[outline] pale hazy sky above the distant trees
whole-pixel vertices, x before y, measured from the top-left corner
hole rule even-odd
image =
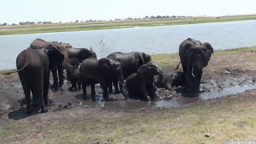
[[[256,14],[256,0],[0,0],[0,23]]]

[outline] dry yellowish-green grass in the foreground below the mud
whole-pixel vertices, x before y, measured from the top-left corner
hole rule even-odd
[[[55,119],[56,115],[52,114],[50,120],[41,120],[42,126],[34,126],[34,122],[42,119],[39,117],[30,118],[32,124],[15,121],[10,126],[0,127],[0,134],[4,135],[0,136],[0,142],[15,141],[16,137],[19,139],[18,134],[42,134],[43,138],[38,138],[35,143],[223,143],[254,140],[255,100],[254,94],[248,94],[178,109],[122,114],[118,118],[74,112],[71,115],[80,114],[80,117],[74,117],[72,122],[68,118],[71,115],[64,112],[62,118]],[[46,121],[51,122],[46,125]]]

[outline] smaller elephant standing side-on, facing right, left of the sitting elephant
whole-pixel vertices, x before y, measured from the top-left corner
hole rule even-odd
[[[95,82],[99,82],[103,90],[104,101],[109,101],[107,88],[111,78],[118,79],[120,85],[124,82],[121,64],[110,58],[101,58],[99,60],[96,58],[86,58],[78,67],[78,70],[76,70],[76,75],[81,79],[82,86],[85,89],[86,84],[93,83],[91,81],[88,82],[88,80],[94,79]],[[126,96],[122,87],[120,88],[122,94]],[[91,89],[91,97],[95,101],[95,90],[92,86]],[[84,97],[86,97],[86,94],[84,94]]]

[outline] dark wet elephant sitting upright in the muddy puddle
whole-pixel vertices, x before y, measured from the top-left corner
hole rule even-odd
[[[138,73],[126,78],[126,87],[129,98],[148,101],[155,99],[154,76],[162,74],[162,70],[154,63],[148,62],[138,69]]]

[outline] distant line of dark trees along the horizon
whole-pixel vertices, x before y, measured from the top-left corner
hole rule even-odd
[[[204,17],[206,17],[206,15],[204,16]],[[161,19],[161,18],[192,18],[192,16],[176,16],[176,15],[172,15],[172,16],[170,16],[170,15],[164,15],[164,16],[161,16],[161,15],[157,15],[157,16],[154,16],[154,15],[152,15],[152,16],[145,16],[144,18],[115,18],[114,20],[112,20],[112,19],[110,19],[109,21],[133,21],[133,20],[140,20],[140,19]],[[78,23],[79,22],[79,20],[76,20],[75,21],[76,23]],[[80,22],[83,22],[83,21],[80,21]],[[85,21],[85,22],[106,22],[105,20],[92,20],[92,19],[90,19],[90,20],[87,20],[87,21]],[[40,24],[51,24],[51,23],[54,23],[54,22],[28,22],[28,21],[26,21],[26,22],[18,22],[18,24],[16,24],[16,23],[12,23],[12,24],[9,24],[9,25],[11,25],[11,26],[15,26],[15,25],[35,25],[35,24],[38,24],[38,25],[40,25]],[[62,23],[62,22],[55,22],[55,23]],[[70,23],[72,23],[72,22],[70,22]],[[8,24],[6,23],[6,22],[4,22],[4,23],[0,23],[0,26],[7,26]]]

